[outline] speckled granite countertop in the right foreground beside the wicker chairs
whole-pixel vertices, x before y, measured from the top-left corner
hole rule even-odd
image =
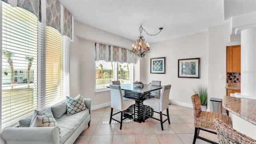
[[[223,96],[222,106],[236,116],[256,125],[256,100]]]

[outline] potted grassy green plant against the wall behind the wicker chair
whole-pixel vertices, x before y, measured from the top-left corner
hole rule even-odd
[[[207,99],[208,99],[208,93],[207,93],[207,86],[203,84],[199,84],[196,86],[196,88],[193,89],[195,94],[199,95],[200,101],[201,101],[201,107],[202,111],[207,110]]]

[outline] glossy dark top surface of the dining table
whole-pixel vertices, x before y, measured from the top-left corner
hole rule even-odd
[[[159,90],[163,88],[163,86],[158,86],[158,85],[152,85],[152,84],[143,84],[144,87],[142,86],[135,86],[134,84],[121,84],[121,89],[124,91],[131,91],[131,92],[136,92],[140,94],[144,94],[145,92],[151,92],[154,90]],[[107,86],[109,88],[109,86]]]

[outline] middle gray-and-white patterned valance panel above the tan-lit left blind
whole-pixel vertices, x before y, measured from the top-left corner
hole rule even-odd
[[[46,26],[60,32],[60,2],[58,0],[46,0]]]

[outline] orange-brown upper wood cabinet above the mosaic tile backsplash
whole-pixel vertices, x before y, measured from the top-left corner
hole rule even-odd
[[[227,72],[241,72],[241,45],[227,46]]]

